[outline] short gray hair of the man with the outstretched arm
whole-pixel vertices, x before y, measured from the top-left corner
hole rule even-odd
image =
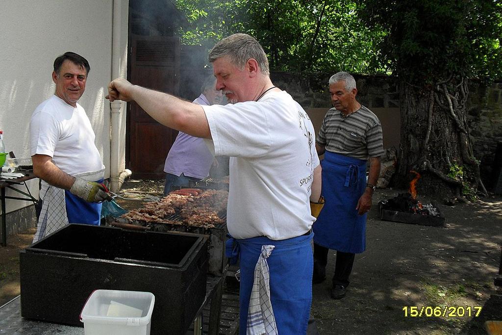
[[[270,74],[267,55],[253,36],[233,34],[222,39],[209,52],[209,62],[212,63],[226,55],[229,55],[232,63],[241,70],[250,58],[256,59],[262,73],[265,75]]]

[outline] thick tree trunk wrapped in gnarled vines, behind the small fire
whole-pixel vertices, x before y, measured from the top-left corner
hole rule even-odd
[[[465,118],[467,95],[464,78],[424,88],[400,83],[400,180],[416,170],[434,186],[427,192],[447,186],[458,197],[480,186],[485,193]]]

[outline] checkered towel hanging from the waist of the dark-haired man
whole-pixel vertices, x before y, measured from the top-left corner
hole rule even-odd
[[[48,185],[42,199],[42,210],[33,243],[68,225],[64,189]]]

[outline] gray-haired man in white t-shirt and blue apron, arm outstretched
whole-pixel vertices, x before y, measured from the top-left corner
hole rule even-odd
[[[107,97],[134,100],[161,124],[208,139],[215,155],[230,156],[227,227],[240,260],[240,333],[305,333],[315,220],[309,199],[317,202],[321,188],[314,128],[273,85],[255,38],[231,35],[209,61],[216,88],[233,104],[201,106],[120,78]]]

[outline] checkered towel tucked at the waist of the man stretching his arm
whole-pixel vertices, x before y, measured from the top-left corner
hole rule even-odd
[[[277,334],[276,319],[270,301],[270,271],[267,263],[272,245],[262,246],[262,253],[255,267],[255,281],[247,310],[247,335]]]

